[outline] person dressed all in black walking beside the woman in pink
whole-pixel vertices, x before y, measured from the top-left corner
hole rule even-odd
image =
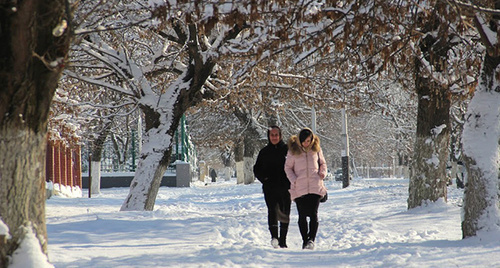
[[[253,172],[255,177],[262,182],[271,232],[271,245],[275,248],[286,248],[292,202],[288,192],[290,181],[284,170],[288,147],[283,142],[281,129],[278,126],[271,126],[268,129],[267,138],[269,143],[260,150]],[[280,222],[279,235],[278,222]]]

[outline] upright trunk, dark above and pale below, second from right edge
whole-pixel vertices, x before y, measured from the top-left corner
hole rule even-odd
[[[418,95],[417,135],[411,164],[408,208],[446,201],[446,166],[450,143],[451,94],[447,85],[433,78],[434,73],[445,73],[451,38],[447,27],[441,24],[437,3],[435,12],[424,27],[427,34],[420,41],[422,58],[415,59],[415,89]]]

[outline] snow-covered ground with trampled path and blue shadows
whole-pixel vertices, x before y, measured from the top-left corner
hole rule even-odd
[[[500,236],[461,239],[463,191],[408,211],[407,179],[327,181],[316,249],[302,250],[292,204],[287,249],[274,249],[261,184],[161,187],[149,212],[120,212],[128,188],[47,200],[55,267],[500,267]]]

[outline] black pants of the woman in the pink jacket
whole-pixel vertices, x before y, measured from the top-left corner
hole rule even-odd
[[[308,240],[314,241],[318,233],[318,207],[320,195],[307,194],[295,199],[297,211],[299,213],[299,230],[302,236],[302,241],[306,243]],[[309,217],[309,226],[307,224]]]

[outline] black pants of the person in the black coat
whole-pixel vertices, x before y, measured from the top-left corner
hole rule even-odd
[[[290,193],[288,190],[264,191],[264,199],[267,206],[267,223],[272,238],[286,238],[288,224],[290,222]],[[281,235],[278,236],[278,222],[280,222]]]

